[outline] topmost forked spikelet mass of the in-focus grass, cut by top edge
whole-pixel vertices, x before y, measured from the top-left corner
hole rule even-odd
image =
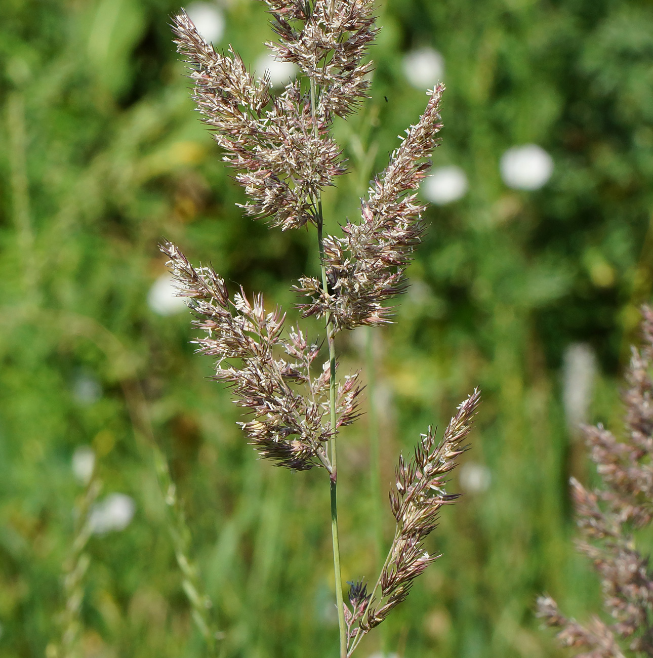
[[[375,36],[373,3],[267,4],[280,37],[270,47],[321,86],[319,102],[311,103],[300,80],[273,96],[269,79],[255,79],[231,47],[215,51],[184,11],[172,28],[190,64],[197,109],[224,160],[238,170],[236,180],[248,196],[244,208],[286,230],[315,222],[320,190],[346,171],[328,130],[334,114],[348,114],[366,95],[371,64],[361,60]]]

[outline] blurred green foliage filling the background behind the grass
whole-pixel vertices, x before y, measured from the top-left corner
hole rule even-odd
[[[182,592],[148,433],[167,456],[225,657],[336,655],[323,474],[255,459],[228,391],[193,354],[188,314],[147,293],[174,240],[228,281],[292,308],[315,270],[314,236],[243,218],[199,124],[172,47],[168,0],[1,0],[0,657],[42,656],[61,635],[61,565],[91,445],[105,493],[136,501],[122,532],[94,536],[81,655],[207,655]],[[263,6],[222,5],[247,62],[270,38]],[[614,379],[653,281],[653,9],[644,0],[390,0],[373,48],[373,97],[336,126],[352,176],[325,197],[332,230],[355,216],[371,170],[425,95],[402,57],[431,45],[448,86],[434,164],[469,193],[432,207],[398,323],[375,335],[382,483],[428,424],[475,385],[473,450],[488,490],[442,515],[443,557],[388,622],[388,650],[427,658],[556,655],[533,617],[549,590],[579,617],[597,585],[575,557],[567,477],[586,472],[561,401],[565,347],[600,357],[592,420],[615,427]],[[498,162],[535,142],[550,182],[509,190]],[[293,312],[290,312],[293,315]],[[316,328],[311,328],[312,335]],[[357,334],[342,342],[359,367]],[[95,382],[97,394],[76,394]],[[99,388],[98,388],[99,386]],[[373,577],[367,421],[344,434],[346,578]],[[457,483],[456,483],[457,484]],[[384,519],[388,540],[389,511]],[[379,650],[371,636],[361,656]],[[366,653],[367,652],[367,653]]]

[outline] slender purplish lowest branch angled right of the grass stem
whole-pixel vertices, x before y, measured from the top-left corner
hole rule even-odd
[[[437,526],[442,505],[452,503],[458,493],[448,493],[446,476],[457,466],[457,457],[467,447],[463,441],[471,430],[481,393],[475,390],[459,405],[440,443],[435,432],[427,434],[415,447],[411,461],[400,457],[396,485],[390,492],[390,508],[397,526],[394,540],[379,580],[371,594],[362,583],[352,586],[347,610],[350,620],[350,647],[353,651],[363,635],[378,626],[410,592],[413,581],[438,557],[429,555],[424,540]]]

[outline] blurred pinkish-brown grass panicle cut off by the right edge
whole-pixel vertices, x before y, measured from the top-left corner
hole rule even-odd
[[[653,573],[633,539],[653,515],[653,311],[644,307],[642,315],[644,347],[632,348],[626,372],[623,438],[601,425],[584,427],[602,486],[588,491],[571,478],[583,535],[577,547],[600,575],[604,607],[614,622],[595,616],[582,625],[564,617],[550,596],[538,599],[538,615],[560,628],[561,644],[584,649],[577,655],[588,658],[623,658],[628,651],[653,655]]]

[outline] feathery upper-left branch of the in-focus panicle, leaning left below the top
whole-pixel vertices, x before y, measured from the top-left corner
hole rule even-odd
[[[249,215],[271,217],[286,230],[315,222],[315,199],[346,169],[336,141],[321,122],[317,133],[300,82],[273,97],[267,78],[255,80],[229,47],[218,53],[184,11],[173,19],[177,50],[189,64],[193,98],[203,121],[238,170]]]

